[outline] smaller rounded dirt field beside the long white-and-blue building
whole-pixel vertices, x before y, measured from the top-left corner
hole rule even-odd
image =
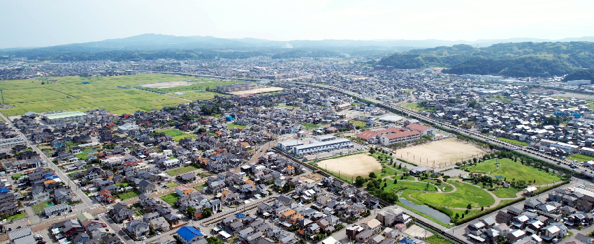
[[[367,153],[349,155],[342,158],[334,158],[329,160],[322,160],[318,162],[318,166],[328,169],[338,174],[348,174],[349,176],[365,176],[370,172],[382,171],[382,165],[377,162],[375,158]]]

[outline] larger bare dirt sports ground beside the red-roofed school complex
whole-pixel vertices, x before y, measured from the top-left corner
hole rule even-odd
[[[433,167],[433,162],[435,161],[435,167],[444,167],[460,162],[462,159],[468,160],[469,158],[476,157],[477,154],[482,155],[482,153],[484,151],[475,145],[457,142],[455,139],[444,139],[419,146],[398,149],[396,156],[428,167]]]

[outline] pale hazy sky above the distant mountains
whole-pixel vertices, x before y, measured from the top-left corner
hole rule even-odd
[[[0,48],[143,33],[269,40],[594,36],[592,0],[0,1]]]

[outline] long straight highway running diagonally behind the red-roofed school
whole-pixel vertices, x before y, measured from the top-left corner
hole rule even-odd
[[[528,149],[528,148],[525,148],[525,147],[520,146],[520,145],[511,144],[509,142],[503,142],[500,139],[498,139],[497,137],[493,137],[492,135],[484,135],[484,134],[481,134],[479,132],[475,132],[475,131],[468,130],[468,129],[465,129],[465,128],[459,128],[457,126],[450,125],[449,123],[443,123],[441,121],[437,121],[437,120],[435,120],[433,118],[430,118],[428,116],[424,116],[422,114],[417,114],[416,112],[413,112],[411,110],[405,109],[403,107],[398,107],[397,105],[391,105],[389,103],[386,103],[386,102],[383,102],[383,101],[380,101],[380,100],[375,100],[374,98],[365,98],[365,97],[361,96],[361,94],[354,93],[352,91],[347,91],[345,89],[340,89],[340,88],[335,87],[335,86],[321,86],[321,85],[318,85],[318,84],[310,84],[310,83],[303,83],[303,82],[291,82],[291,83],[303,84],[303,85],[308,85],[308,86],[318,86],[318,87],[321,87],[321,88],[330,89],[332,91],[338,91],[340,93],[344,93],[344,94],[347,94],[349,96],[354,96],[354,97],[356,97],[358,99],[361,99],[361,100],[368,100],[370,102],[375,102],[375,103],[377,103],[377,105],[379,105],[381,107],[384,107],[386,109],[391,109],[393,111],[400,112],[401,114],[403,114],[405,116],[408,116],[408,117],[411,117],[411,118],[414,118],[414,119],[418,119],[419,121],[423,121],[425,123],[430,123],[430,124],[433,124],[433,125],[439,125],[442,128],[446,128],[448,130],[457,132],[457,133],[459,133],[461,135],[466,135],[468,137],[479,139],[479,140],[484,141],[484,142],[490,142],[492,144],[498,144],[498,146],[502,146],[502,147],[506,148],[507,150],[516,151],[516,152],[521,153],[523,155],[528,155],[530,157],[537,158],[539,160],[543,160],[544,162],[549,162],[551,165],[557,165],[558,167],[564,167],[566,169],[569,169],[570,171],[573,171],[573,169],[570,167],[570,163],[567,162],[567,161],[565,161],[565,160],[561,160],[561,159],[556,158],[556,157],[553,157],[551,155],[547,155],[546,153],[541,153],[539,151]],[[585,168],[581,168],[581,169],[585,170]],[[590,178],[593,178],[593,176],[594,176],[594,174],[591,174],[591,173],[583,173],[583,174],[586,175],[586,176],[588,176],[588,177],[590,177]]]

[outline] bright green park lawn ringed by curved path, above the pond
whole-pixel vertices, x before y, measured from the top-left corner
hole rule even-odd
[[[419,195],[419,199],[451,208],[466,208],[468,204],[472,207],[495,204],[495,199],[481,188],[459,181],[448,181],[448,183],[454,185],[457,190],[451,193],[424,193]]]

